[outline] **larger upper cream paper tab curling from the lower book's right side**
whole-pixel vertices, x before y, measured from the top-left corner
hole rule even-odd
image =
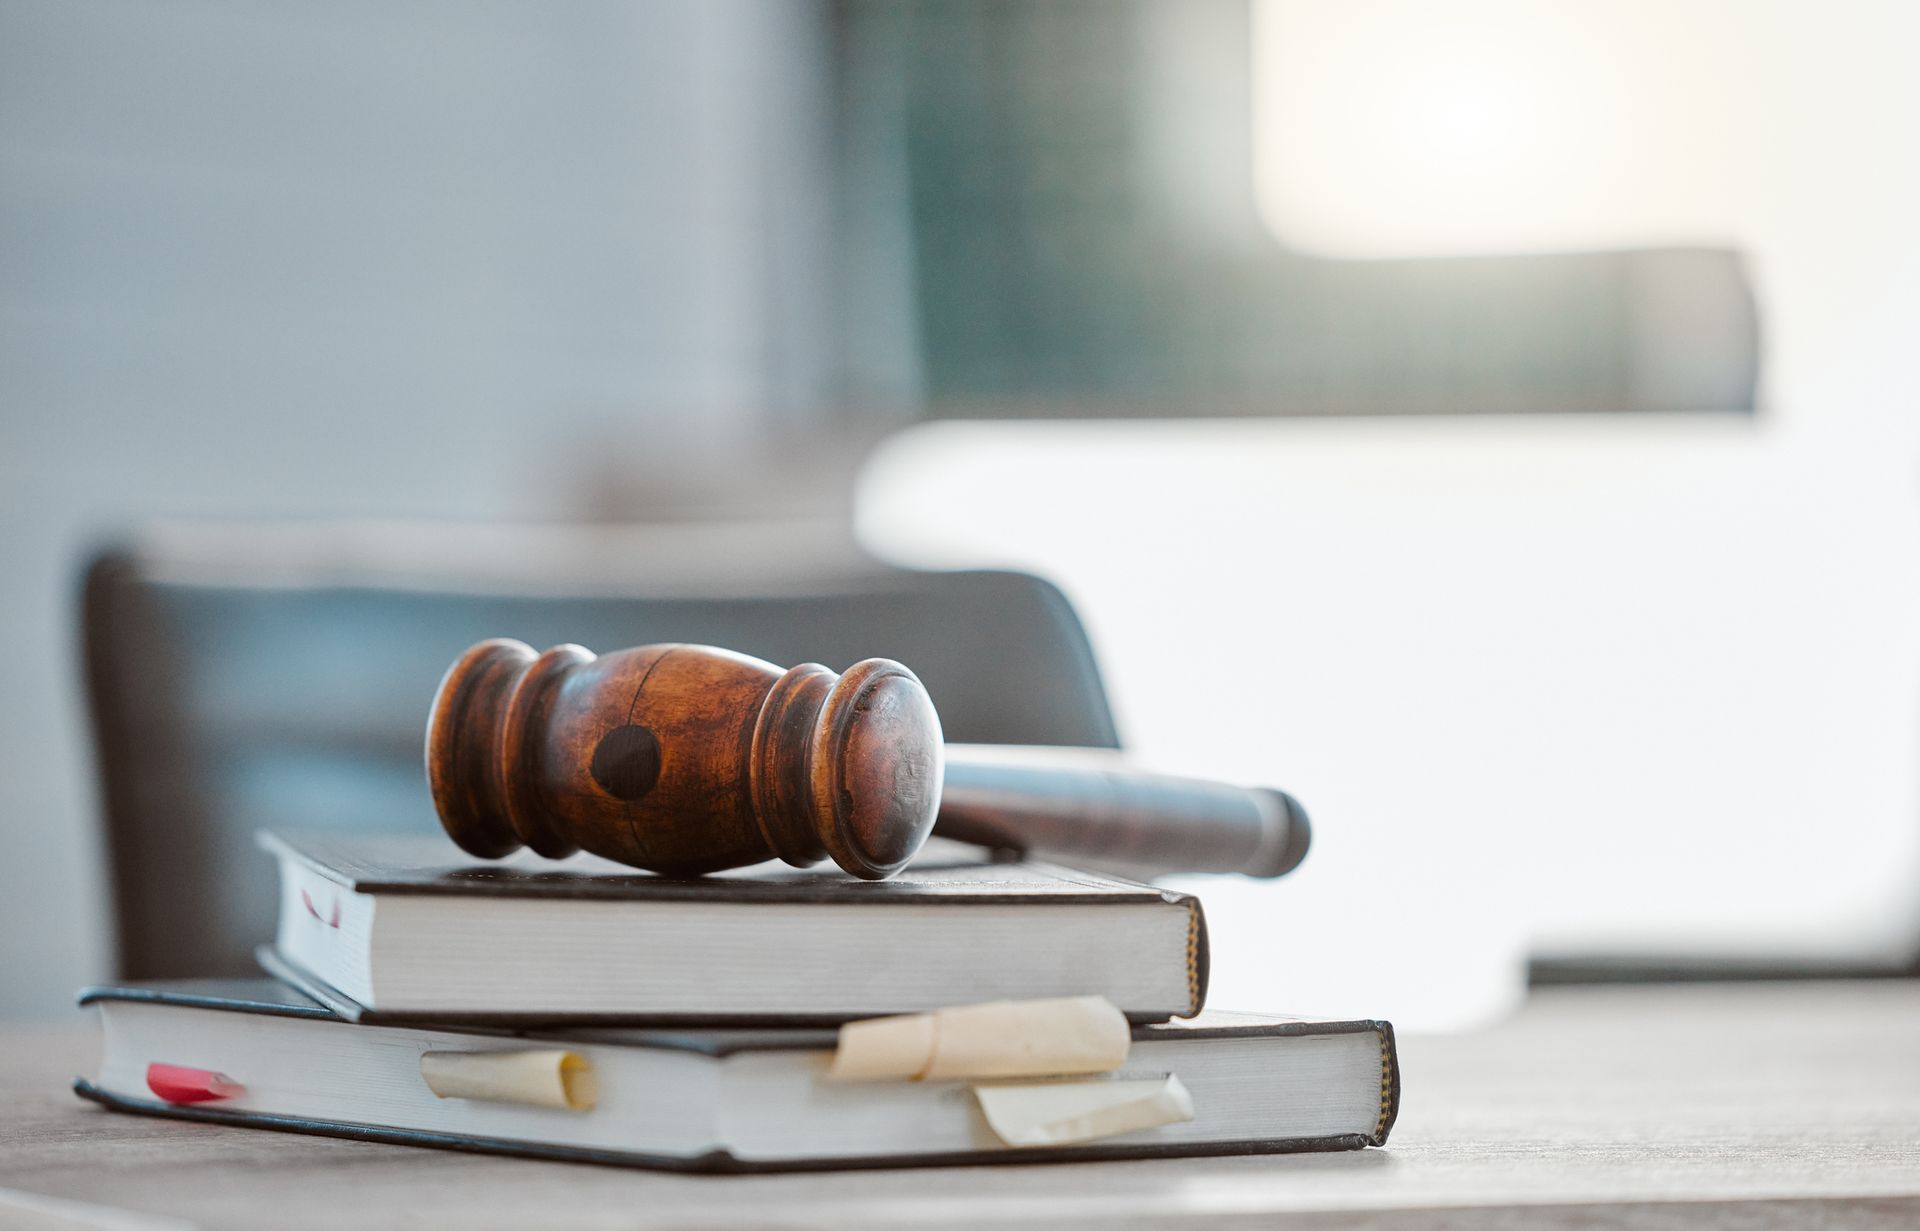
[[[960,1081],[1106,1074],[1127,1062],[1127,1018],[1104,997],[993,1001],[841,1026],[831,1081]]]

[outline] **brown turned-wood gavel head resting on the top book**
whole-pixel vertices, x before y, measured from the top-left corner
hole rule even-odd
[[[440,822],[468,855],[591,851],[668,876],[833,857],[883,880],[941,801],[941,722],[899,663],[781,670],[708,645],[595,657],[482,641],[426,726]]]

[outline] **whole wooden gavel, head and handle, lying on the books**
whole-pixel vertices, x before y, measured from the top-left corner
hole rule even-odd
[[[426,726],[434,807],[482,858],[586,849],[699,876],[831,857],[885,880],[929,832],[1142,874],[1281,876],[1306,857],[1283,791],[1079,753],[945,745],[925,688],[887,659],[781,670],[710,645],[480,641]]]

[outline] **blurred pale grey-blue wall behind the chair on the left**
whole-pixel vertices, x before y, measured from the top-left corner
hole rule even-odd
[[[0,4],[0,1004],[106,968],[98,540],[645,511],[662,455],[828,413],[824,38],[726,0]]]

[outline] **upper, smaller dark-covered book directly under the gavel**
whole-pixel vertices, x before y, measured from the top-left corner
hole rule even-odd
[[[887,881],[760,864],[668,880],[576,855],[263,833],[280,916],[263,962],[359,1022],[831,1024],[1102,995],[1200,1012],[1198,899],[929,841]]]

